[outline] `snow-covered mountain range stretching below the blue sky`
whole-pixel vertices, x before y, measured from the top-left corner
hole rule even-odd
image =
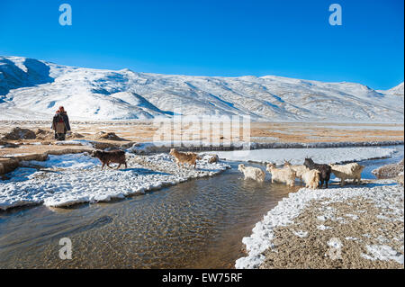
[[[402,96],[398,96],[402,95]],[[255,121],[402,122],[403,83],[375,91],[356,83],[281,76],[177,76],[59,66],[0,56],[0,120],[123,120],[250,115]]]

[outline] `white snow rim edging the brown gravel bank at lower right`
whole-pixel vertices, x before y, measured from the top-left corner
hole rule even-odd
[[[248,238],[243,238],[243,243],[247,247],[248,255],[246,257],[239,258],[236,261],[236,268],[257,268],[265,260],[263,252],[267,248],[274,247],[272,240],[274,239],[274,229],[276,227],[287,226],[293,223],[296,218],[303,211],[304,208],[310,205],[310,202],[320,201],[322,199],[328,199],[329,202],[342,202],[347,201],[350,198],[361,196],[365,200],[371,200],[375,206],[383,208],[391,208],[392,214],[402,214],[403,205],[401,209],[387,204],[388,199],[392,196],[401,196],[403,202],[403,189],[399,185],[392,185],[389,181],[380,181],[379,184],[369,184],[365,187],[356,188],[329,188],[325,190],[311,190],[302,188],[297,193],[290,193],[287,198],[279,202],[277,206],[271,211],[268,211],[264,219],[257,222],[253,233]],[[387,184],[387,185],[383,185]],[[377,250],[378,249],[378,250]],[[381,248],[370,247],[372,256],[370,258],[378,258],[380,260],[392,259],[392,252],[384,248],[384,252]],[[378,254],[378,256],[377,256]],[[403,263],[402,258],[396,258],[398,262]]]

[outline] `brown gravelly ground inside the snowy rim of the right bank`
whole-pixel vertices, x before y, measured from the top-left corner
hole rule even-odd
[[[390,195],[387,203],[403,211],[403,197]],[[333,217],[325,217],[331,211]],[[403,212],[379,208],[361,196],[311,202],[293,224],[274,230],[274,247],[266,251],[260,268],[403,269],[401,216]]]

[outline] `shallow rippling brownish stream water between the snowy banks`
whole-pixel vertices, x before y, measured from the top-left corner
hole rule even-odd
[[[396,148],[392,158],[362,162],[364,178],[398,162],[403,146]],[[244,256],[242,238],[300,186],[245,181],[238,163],[231,165],[221,175],[117,202],[0,212],[0,267],[232,268]],[[71,239],[71,260],[59,258],[60,238]]]

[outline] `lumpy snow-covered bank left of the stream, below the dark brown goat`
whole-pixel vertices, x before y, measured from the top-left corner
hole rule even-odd
[[[85,154],[49,156],[45,162],[25,162],[25,167],[9,174],[11,179],[0,181],[0,210],[40,203],[62,207],[81,202],[106,202],[191,178],[216,175],[228,168],[221,163],[199,161],[195,170],[181,169],[166,154],[130,156],[128,163],[125,169],[102,171],[98,159]]]

